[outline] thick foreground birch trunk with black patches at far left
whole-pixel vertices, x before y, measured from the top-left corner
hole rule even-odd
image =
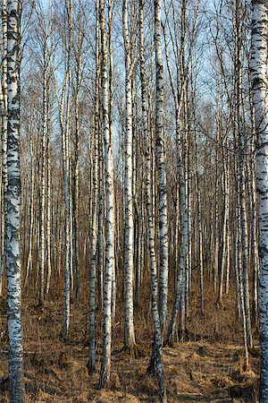
[[[25,401],[21,327],[21,167],[20,167],[20,43],[21,2],[7,5],[7,324],[11,403]]]

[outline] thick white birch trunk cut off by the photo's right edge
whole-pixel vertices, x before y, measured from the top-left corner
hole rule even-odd
[[[268,6],[266,0],[252,1],[252,54],[251,77],[255,107],[256,182],[260,223],[260,287],[259,317],[261,342],[260,402],[268,401],[268,80],[267,80],[267,29]]]

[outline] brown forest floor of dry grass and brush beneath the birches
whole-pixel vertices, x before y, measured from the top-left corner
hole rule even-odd
[[[257,401],[258,347],[250,351],[250,369],[245,371],[240,326],[231,308],[231,296],[224,307],[207,304],[200,317],[192,310],[186,341],[163,348],[167,396],[173,402]],[[152,340],[147,309],[138,310],[136,358],[122,348],[122,313],[113,324],[112,373],[109,390],[97,390],[101,345],[96,346],[97,371],[88,374],[86,335],[88,308],[71,307],[70,342],[61,340],[62,304],[47,301],[44,308],[25,299],[23,303],[24,366],[27,402],[158,402],[158,386],[147,374]],[[0,300],[0,401],[7,402],[7,340],[5,301]],[[98,336],[101,321],[98,321]],[[98,338],[100,339],[100,338]],[[119,341],[120,340],[120,341]],[[141,340],[139,342],[139,340]]]

